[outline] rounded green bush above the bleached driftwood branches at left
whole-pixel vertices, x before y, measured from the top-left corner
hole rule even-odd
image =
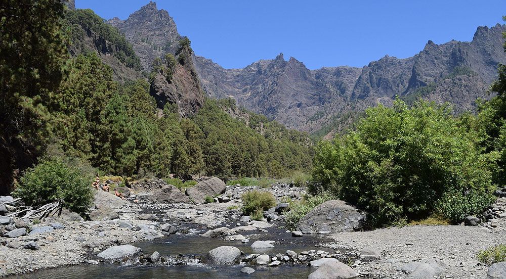
[[[27,169],[13,194],[30,206],[59,201],[79,214],[86,213],[93,200],[90,177],[59,160],[44,161]]]

